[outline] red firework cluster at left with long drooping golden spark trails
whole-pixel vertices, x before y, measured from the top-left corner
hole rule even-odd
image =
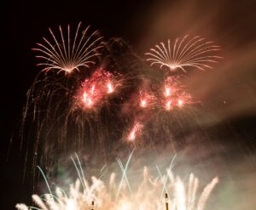
[[[117,58],[116,47],[125,46],[120,41],[109,41],[105,46],[108,48],[101,57],[108,62],[68,77],[39,71],[28,89],[20,124],[20,148],[24,150],[24,177],[32,169],[33,184],[36,165],[55,167],[60,156],[73,150],[84,150],[89,156],[101,150],[101,158],[105,158],[107,148],[123,144],[119,141],[123,133],[112,131],[125,131],[134,121],[133,115],[124,116],[121,109],[131,94],[135,77],[131,77],[129,60],[135,60],[135,56],[130,48],[121,48]],[[130,56],[129,60],[124,61],[126,56]],[[55,150],[60,151],[58,155]]]

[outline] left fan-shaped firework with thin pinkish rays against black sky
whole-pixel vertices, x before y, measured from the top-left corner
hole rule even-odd
[[[44,43],[37,43],[38,48],[33,48],[39,54],[36,56],[44,60],[38,65],[43,65],[43,71],[57,70],[71,73],[74,70],[79,71],[79,67],[89,67],[94,64],[93,59],[99,55],[99,48],[102,48],[102,37],[98,36],[98,31],[89,34],[90,26],[83,31],[80,30],[81,22],[75,35],[72,38],[70,26],[67,26],[67,36],[64,35],[61,26],[59,26],[60,37],[49,28],[52,40],[44,39]]]

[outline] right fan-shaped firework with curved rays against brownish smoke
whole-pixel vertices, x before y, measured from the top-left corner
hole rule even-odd
[[[155,45],[150,48],[148,61],[151,65],[160,65],[160,68],[166,66],[170,71],[181,69],[186,71],[185,67],[195,67],[200,70],[204,68],[212,68],[211,63],[217,63],[221,57],[215,54],[220,50],[218,45],[212,42],[205,42],[204,38],[199,36],[189,39],[189,35],[183,38],[177,38],[174,45],[170,40],[166,43]]]

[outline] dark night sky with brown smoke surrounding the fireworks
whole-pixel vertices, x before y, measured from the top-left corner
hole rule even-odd
[[[143,54],[168,37],[201,35],[223,46],[219,69],[192,72],[189,84],[205,101],[218,127],[229,125],[242,151],[231,150],[229,159],[246,159],[256,167],[256,3],[245,1],[9,1],[3,7],[3,65],[1,82],[2,142],[0,209],[15,209],[31,201],[32,185],[22,183],[19,122],[26,90],[40,69],[32,48],[48,35],[47,29],[71,24],[90,25],[104,37],[122,37]],[[149,3],[150,2],[150,3]],[[204,74],[204,75],[203,75]],[[206,78],[206,79],[204,79]],[[202,87],[198,87],[198,84]],[[214,88],[215,87],[215,88]],[[226,105],[224,105],[224,104]],[[13,144],[9,142],[14,135]],[[223,135],[229,135],[225,132]],[[226,138],[227,145],[233,142]],[[7,161],[8,160],[8,161]],[[236,164],[236,162],[233,162]],[[237,162],[237,164],[239,164]],[[252,170],[254,177],[255,170]],[[254,182],[255,184],[255,182]],[[255,186],[255,185],[254,185]],[[253,187],[253,186],[252,186]],[[255,190],[253,191],[255,192]],[[242,193],[242,192],[241,192]],[[250,200],[248,200],[250,202]],[[252,201],[255,204],[255,201]],[[252,206],[248,206],[252,207]],[[242,208],[241,208],[242,209]],[[247,208],[250,210],[253,208]]]

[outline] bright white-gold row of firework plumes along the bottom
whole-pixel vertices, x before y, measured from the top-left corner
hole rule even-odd
[[[117,158],[121,173],[111,173],[107,182],[96,177],[85,179],[80,163],[76,163],[74,159],[73,162],[79,173],[79,179],[71,184],[69,193],[57,187],[54,194],[49,188],[49,194],[32,196],[38,207],[17,204],[16,208],[19,210],[203,210],[214,186],[218,183],[218,178],[212,179],[200,195],[199,179],[193,173],[189,176],[188,184],[172,173],[173,159],[166,168],[166,174],[160,172],[157,166],[158,175],[152,176],[148,167],[144,167],[143,176],[137,177],[137,183],[133,184],[130,183],[131,178],[127,175],[131,156],[125,164]],[[47,185],[49,187],[48,183]]]

